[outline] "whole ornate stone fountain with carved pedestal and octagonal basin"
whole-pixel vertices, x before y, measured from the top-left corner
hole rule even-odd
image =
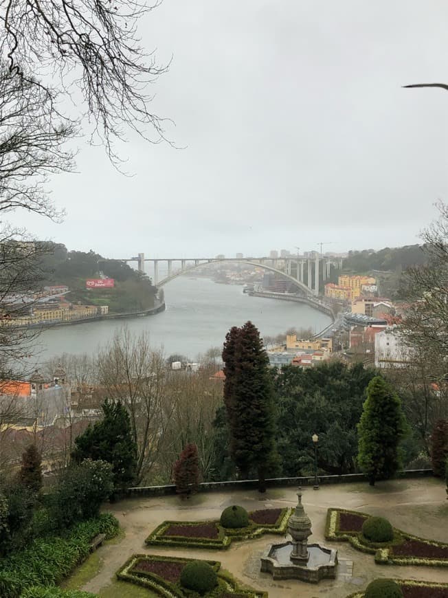
[[[336,577],[337,550],[320,544],[308,544],[311,520],[302,505],[302,489],[298,489],[298,505],[288,523],[292,540],[271,544],[261,559],[261,571],[273,579],[302,579],[317,584],[324,577]]]

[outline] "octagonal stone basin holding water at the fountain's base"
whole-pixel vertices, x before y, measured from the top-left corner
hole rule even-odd
[[[293,542],[272,544],[261,558],[261,571],[271,573],[273,579],[300,579],[317,584],[328,577],[335,579],[337,550],[327,549],[320,544],[308,544],[309,558],[303,564],[291,561]]]

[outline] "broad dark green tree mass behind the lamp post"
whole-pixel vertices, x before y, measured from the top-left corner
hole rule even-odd
[[[319,435],[318,466],[328,474],[355,471],[357,423],[375,370],[339,361],[302,369],[286,366],[274,379],[277,445],[283,476],[313,472],[313,442]]]

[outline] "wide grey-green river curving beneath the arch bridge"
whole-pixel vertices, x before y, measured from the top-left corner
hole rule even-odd
[[[231,326],[251,320],[261,335],[277,335],[291,326],[318,332],[331,319],[308,305],[249,297],[243,287],[220,285],[208,278],[179,276],[165,287],[166,311],[145,318],[109,320],[60,326],[39,336],[38,361],[62,353],[94,353],[117,329],[148,331],[155,348],[166,355],[181,353],[195,359],[212,346],[222,346]]]

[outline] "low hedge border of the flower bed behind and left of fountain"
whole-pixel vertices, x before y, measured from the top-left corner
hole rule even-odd
[[[264,533],[275,533],[283,535],[287,529],[287,524],[293,509],[287,507],[281,509],[280,515],[275,523],[271,524],[258,524],[251,522],[247,527],[239,529],[229,529],[221,526],[218,520],[207,520],[207,521],[164,521],[157,526],[148,535],[145,540],[147,546],[161,545],[161,546],[188,546],[189,548],[210,548],[217,550],[225,550],[229,548],[230,544],[234,540],[252,540],[254,538],[260,538]],[[249,513],[250,520],[250,513]],[[198,523],[214,523],[218,526],[219,537],[216,539],[212,538],[191,538],[185,535],[164,535],[164,531],[170,527],[170,525],[197,525]]]

